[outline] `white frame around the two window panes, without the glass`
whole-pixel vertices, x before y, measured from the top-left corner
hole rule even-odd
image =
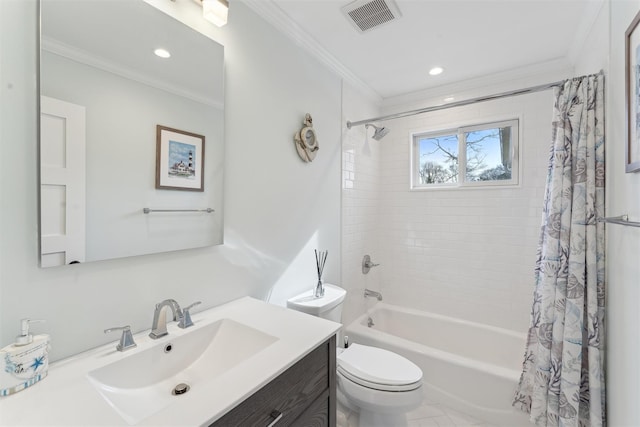
[[[452,126],[444,129],[433,131],[413,132],[410,135],[410,189],[411,190],[436,190],[436,189],[470,189],[470,188],[504,188],[517,187],[520,185],[520,140],[522,119],[520,117],[511,117],[503,120],[487,121],[469,125]],[[511,127],[511,179],[508,180],[491,180],[491,181],[467,181],[466,165],[467,165],[467,146],[465,133],[478,130],[494,129],[500,127]],[[458,182],[440,183],[440,184],[421,184],[420,183],[420,148],[418,141],[424,138],[433,138],[447,135],[458,136]],[[462,165],[462,166],[461,166]]]

